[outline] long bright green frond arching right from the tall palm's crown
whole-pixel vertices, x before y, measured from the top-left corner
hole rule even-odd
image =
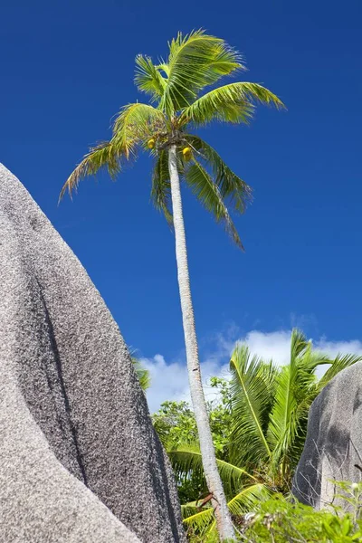
[[[257,103],[279,110],[285,107],[271,90],[258,83],[242,81],[210,90],[182,110],[179,123],[181,126],[187,122],[203,125],[211,120],[248,123]]]

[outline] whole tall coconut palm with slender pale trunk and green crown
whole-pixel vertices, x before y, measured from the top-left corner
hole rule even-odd
[[[148,56],[136,58],[135,82],[148,94],[151,103],[135,102],[119,111],[110,141],[101,142],[83,158],[62,188],[70,194],[82,177],[95,175],[100,168],[116,177],[122,165],[146,149],[155,158],[151,195],[175,229],[176,264],[186,343],[190,392],[203,457],[205,477],[213,496],[214,514],[221,540],[233,538],[233,524],[226,506],[217,471],[201,379],[187,264],[180,179],[224,224],[234,243],[243,247],[228,211],[243,213],[251,190],[226,166],[205,141],[190,133],[217,120],[247,123],[256,103],[282,108],[281,100],[257,83],[232,82],[220,87],[222,77],[244,69],[239,53],[224,40],[195,31],[178,33],[169,43],[167,61],[157,64]],[[210,90],[205,92],[205,88]]]

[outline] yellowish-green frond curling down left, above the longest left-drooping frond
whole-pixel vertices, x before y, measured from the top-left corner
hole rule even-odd
[[[113,140],[126,158],[135,154],[138,144],[166,129],[162,111],[143,103],[124,106],[113,123]]]

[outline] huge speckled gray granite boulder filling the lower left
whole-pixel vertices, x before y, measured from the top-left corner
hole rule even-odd
[[[186,541],[119,329],[1,165],[0,541]]]

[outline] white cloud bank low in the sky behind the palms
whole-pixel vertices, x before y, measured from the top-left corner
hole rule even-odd
[[[247,343],[252,355],[275,363],[286,364],[290,357],[291,330],[276,330],[273,332],[261,332],[252,330],[242,337],[235,338],[235,328],[232,333],[217,334],[209,338],[212,348],[207,356],[201,358],[201,371],[205,384],[205,395],[211,399],[214,389],[208,385],[211,376],[228,376],[229,357],[236,343]],[[231,338],[233,336],[233,338]],[[314,340],[315,348],[335,357],[338,352],[354,353],[362,356],[362,341],[329,341],[326,338]],[[203,341],[205,347],[205,341]],[[152,412],[157,411],[159,405],[165,400],[189,400],[188,377],[186,369],[186,357],[167,363],[162,355],[151,358],[140,358],[141,363],[150,372],[151,386],[148,389],[148,405]]]

